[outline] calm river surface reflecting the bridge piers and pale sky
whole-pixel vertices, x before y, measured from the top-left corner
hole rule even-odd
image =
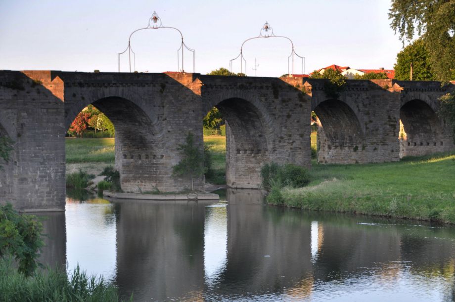
[[[135,301],[453,301],[455,228],[227,201],[80,202],[47,215],[46,263]],[[63,264],[64,265],[64,264]]]

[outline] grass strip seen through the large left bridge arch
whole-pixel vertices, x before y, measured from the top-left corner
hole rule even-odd
[[[114,164],[114,138],[66,138],[66,163]]]

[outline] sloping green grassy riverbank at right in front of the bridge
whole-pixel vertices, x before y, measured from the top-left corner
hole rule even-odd
[[[311,176],[307,187],[280,190],[285,206],[455,223],[454,153],[381,164],[313,162]]]

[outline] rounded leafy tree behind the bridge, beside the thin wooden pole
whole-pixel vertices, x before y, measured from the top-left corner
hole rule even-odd
[[[410,64],[412,63],[412,80],[434,81],[435,76],[431,69],[430,56],[423,39],[415,40],[397,54],[395,64],[395,79],[410,80]]]

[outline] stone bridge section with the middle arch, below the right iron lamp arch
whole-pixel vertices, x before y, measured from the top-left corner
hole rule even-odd
[[[227,185],[258,188],[265,163],[309,166],[310,100],[280,79],[201,76],[205,116],[212,107],[227,128]],[[306,133],[306,134],[305,134]],[[308,139],[307,139],[308,138]]]

